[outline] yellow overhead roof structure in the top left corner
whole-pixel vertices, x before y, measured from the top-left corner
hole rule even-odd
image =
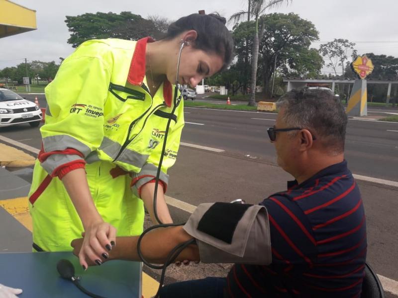
[[[0,0],[0,38],[36,29],[36,10]]]

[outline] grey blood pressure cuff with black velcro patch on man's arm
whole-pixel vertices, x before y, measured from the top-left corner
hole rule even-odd
[[[270,225],[264,206],[200,204],[183,228],[197,239],[203,263],[272,262]]]

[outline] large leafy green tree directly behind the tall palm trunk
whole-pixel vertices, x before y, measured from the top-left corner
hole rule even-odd
[[[257,78],[262,80],[268,95],[271,95],[275,66],[285,76],[315,78],[320,75],[323,59],[316,49],[309,48],[311,42],[318,39],[314,24],[295,13],[265,14],[260,17],[259,22],[261,39]],[[232,35],[236,58],[227,71],[229,74],[219,75],[217,80],[224,80],[225,84],[233,83],[234,89],[247,85],[250,79],[248,64],[251,62],[253,49],[250,37],[255,30],[255,21],[241,22],[234,26]],[[246,55],[249,62],[246,62]]]

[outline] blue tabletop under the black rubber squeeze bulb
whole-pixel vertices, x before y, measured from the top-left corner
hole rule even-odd
[[[87,298],[62,279],[57,262],[68,259],[86,290],[106,298],[141,298],[142,264],[110,261],[84,271],[71,252],[0,253],[0,284],[20,288],[23,298]]]

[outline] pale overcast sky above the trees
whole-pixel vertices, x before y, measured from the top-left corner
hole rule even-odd
[[[247,9],[247,0],[12,0],[36,10],[37,30],[0,39],[0,69],[28,61],[55,61],[67,57],[74,49],[67,44],[70,37],[66,15],[86,12],[131,11],[142,17],[159,15],[176,20],[204,9],[218,11],[229,18]],[[319,41],[334,38],[357,42],[358,53],[373,52],[398,57],[398,0],[293,0],[290,5],[270,12],[295,12],[311,21],[319,31]],[[320,42],[313,43],[318,48]]]

